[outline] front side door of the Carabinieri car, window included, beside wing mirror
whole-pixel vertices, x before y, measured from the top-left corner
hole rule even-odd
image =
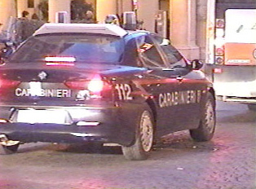
[[[157,41],[160,41],[159,38]],[[190,62],[164,39],[159,43],[164,52],[170,69],[174,69],[178,86],[175,91],[179,94],[176,116],[179,121],[178,130],[196,128],[199,125],[201,115],[201,99],[207,89],[204,74],[198,70],[192,70]]]

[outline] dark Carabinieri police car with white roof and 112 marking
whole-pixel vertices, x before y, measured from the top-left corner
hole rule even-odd
[[[145,160],[157,138],[208,141],[214,89],[168,40],[114,24],[44,24],[0,66],[0,143],[115,143]]]

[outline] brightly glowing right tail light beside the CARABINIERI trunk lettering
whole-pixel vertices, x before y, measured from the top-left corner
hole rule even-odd
[[[77,95],[82,98],[86,95],[89,98],[99,99],[112,89],[112,86],[108,82],[103,81],[99,75],[95,75],[91,80],[65,81],[64,84],[70,89],[80,90]]]

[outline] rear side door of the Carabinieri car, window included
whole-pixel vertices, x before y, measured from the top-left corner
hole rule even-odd
[[[157,103],[157,134],[161,136],[176,131],[180,125],[177,117],[179,107],[174,105],[179,86],[177,73],[168,68],[159,45],[150,34],[137,37],[137,42],[140,66],[150,70],[151,77],[143,81],[143,88]]]

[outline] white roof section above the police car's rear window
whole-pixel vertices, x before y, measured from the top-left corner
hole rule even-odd
[[[60,24],[47,23],[43,24],[33,36],[47,33],[97,33],[107,34],[117,37],[124,37],[128,34],[125,29],[115,24]]]

